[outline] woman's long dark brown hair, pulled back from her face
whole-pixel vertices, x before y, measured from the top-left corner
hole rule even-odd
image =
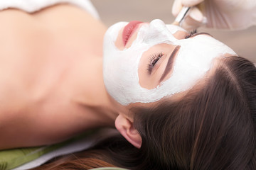
[[[86,157],[140,170],[256,169],[256,69],[242,57],[220,60],[179,101],[132,111],[142,147],[114,137]]]

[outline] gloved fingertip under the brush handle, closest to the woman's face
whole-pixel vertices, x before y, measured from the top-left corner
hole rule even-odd
[[[203,16],[203,13],[201,13],[198,8],[193,7],[191,11],[189,11],[188,16],[184,18],[181,27],[186,30],[194,30],[200,26],[204,26],[205,23],[206,17]]]

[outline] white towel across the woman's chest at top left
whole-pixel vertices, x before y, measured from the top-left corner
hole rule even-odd
[[[95,18],[100,18],[90,0],[4,0],[0,1],[0,11],[6,8],[18,8],[28,13],[33,13],[41,8],[46,8],[47,6],[60,3],[69,3],[79,6]]]

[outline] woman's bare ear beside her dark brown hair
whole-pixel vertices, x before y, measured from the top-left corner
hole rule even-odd
[[[117,130],[128,140],[134,147],[140,148],[142,146],[142,137],[139,132],[134,128],[131,120],[124,115],[119,114],[115,120],[115,127]]]

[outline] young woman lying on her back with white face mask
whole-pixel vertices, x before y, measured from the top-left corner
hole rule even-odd
[[[126,140],[85,154],[105,161],[95,166],[255,168],[255,66],[208,33],[160,20],[107,30],[70,4],[0,18],[1,149],[115,121]]]

